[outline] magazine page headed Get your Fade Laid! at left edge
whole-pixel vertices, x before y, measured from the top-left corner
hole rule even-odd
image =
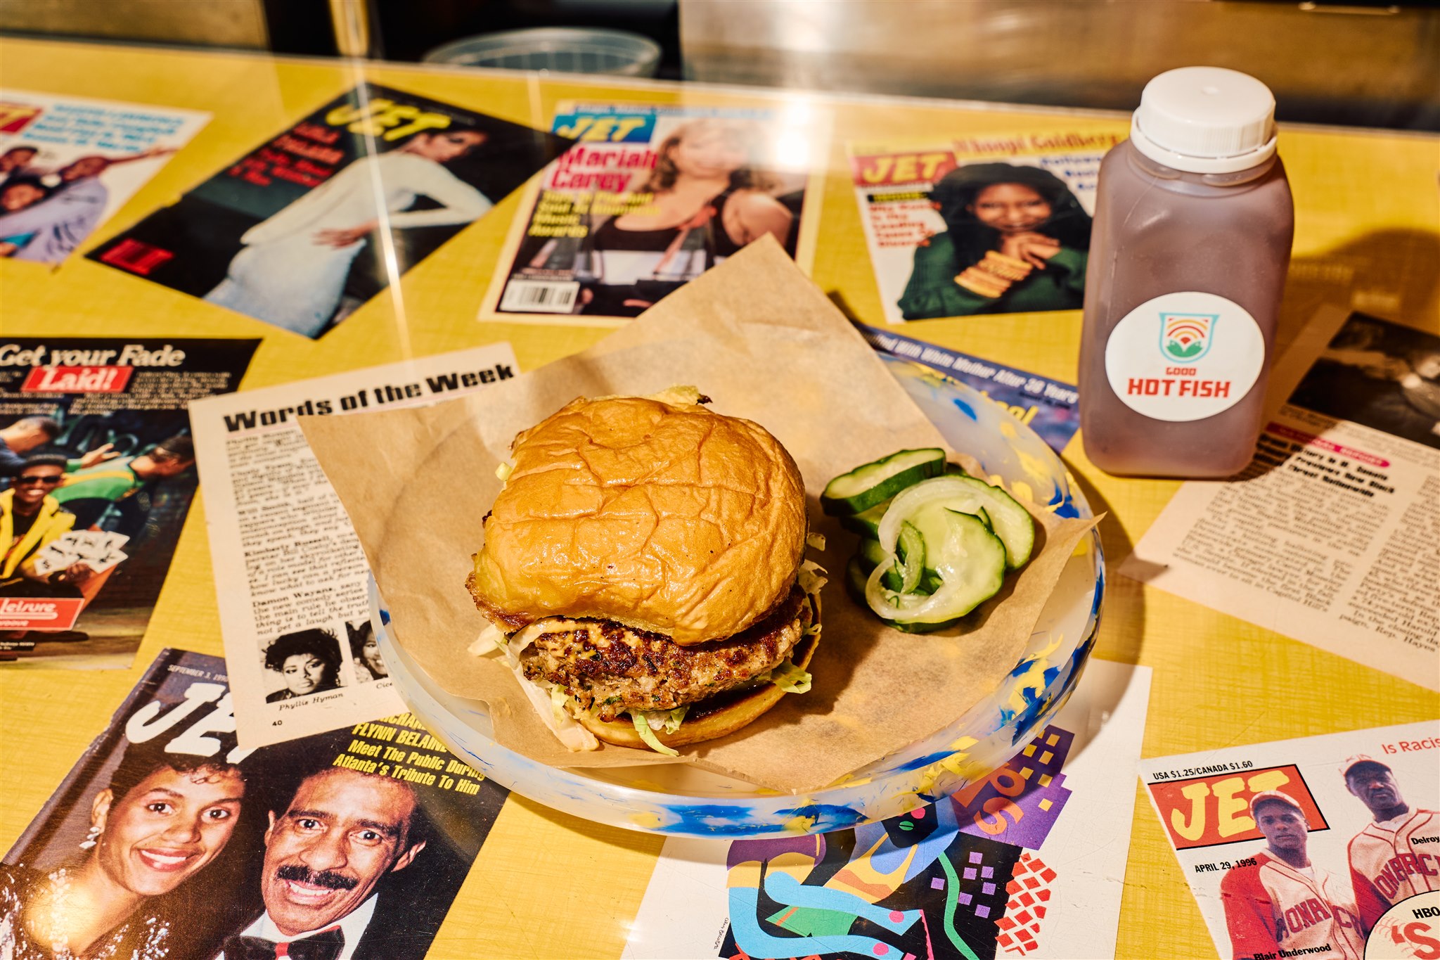
[[[7,669],[130,666],[194,498],[186,407],[233,391],[256,345],[0,338]]]

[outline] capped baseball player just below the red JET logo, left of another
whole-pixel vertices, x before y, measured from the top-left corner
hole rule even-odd
[[[1220,881],[1236,960],[1295,954],[1361,960],[1365,931],[1349,885],[1310,862],[1300,805],[1277,790],[1261,790],[1250,799],[1250,816],[1266,848]]]

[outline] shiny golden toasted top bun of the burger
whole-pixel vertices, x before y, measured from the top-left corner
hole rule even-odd
[[[469,581],[508,629],[595,617],[677,643],[739,633],[805,551],[805,485],[765,427],[697,403],[577,399],[521,432]]]

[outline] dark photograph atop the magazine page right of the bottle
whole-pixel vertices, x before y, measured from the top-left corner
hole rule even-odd
[[[1440,337],[1354,314],[1290,403],[1440,449]]]

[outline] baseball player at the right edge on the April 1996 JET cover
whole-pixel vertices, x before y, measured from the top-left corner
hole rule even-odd
[[[1349,842],[1351,884],[1369,930],[1400,901],[1440,889],[1440,813],[1405,803],[1394,771],[1365,754],[1342,763],[1341,777],[1374,818]]]

